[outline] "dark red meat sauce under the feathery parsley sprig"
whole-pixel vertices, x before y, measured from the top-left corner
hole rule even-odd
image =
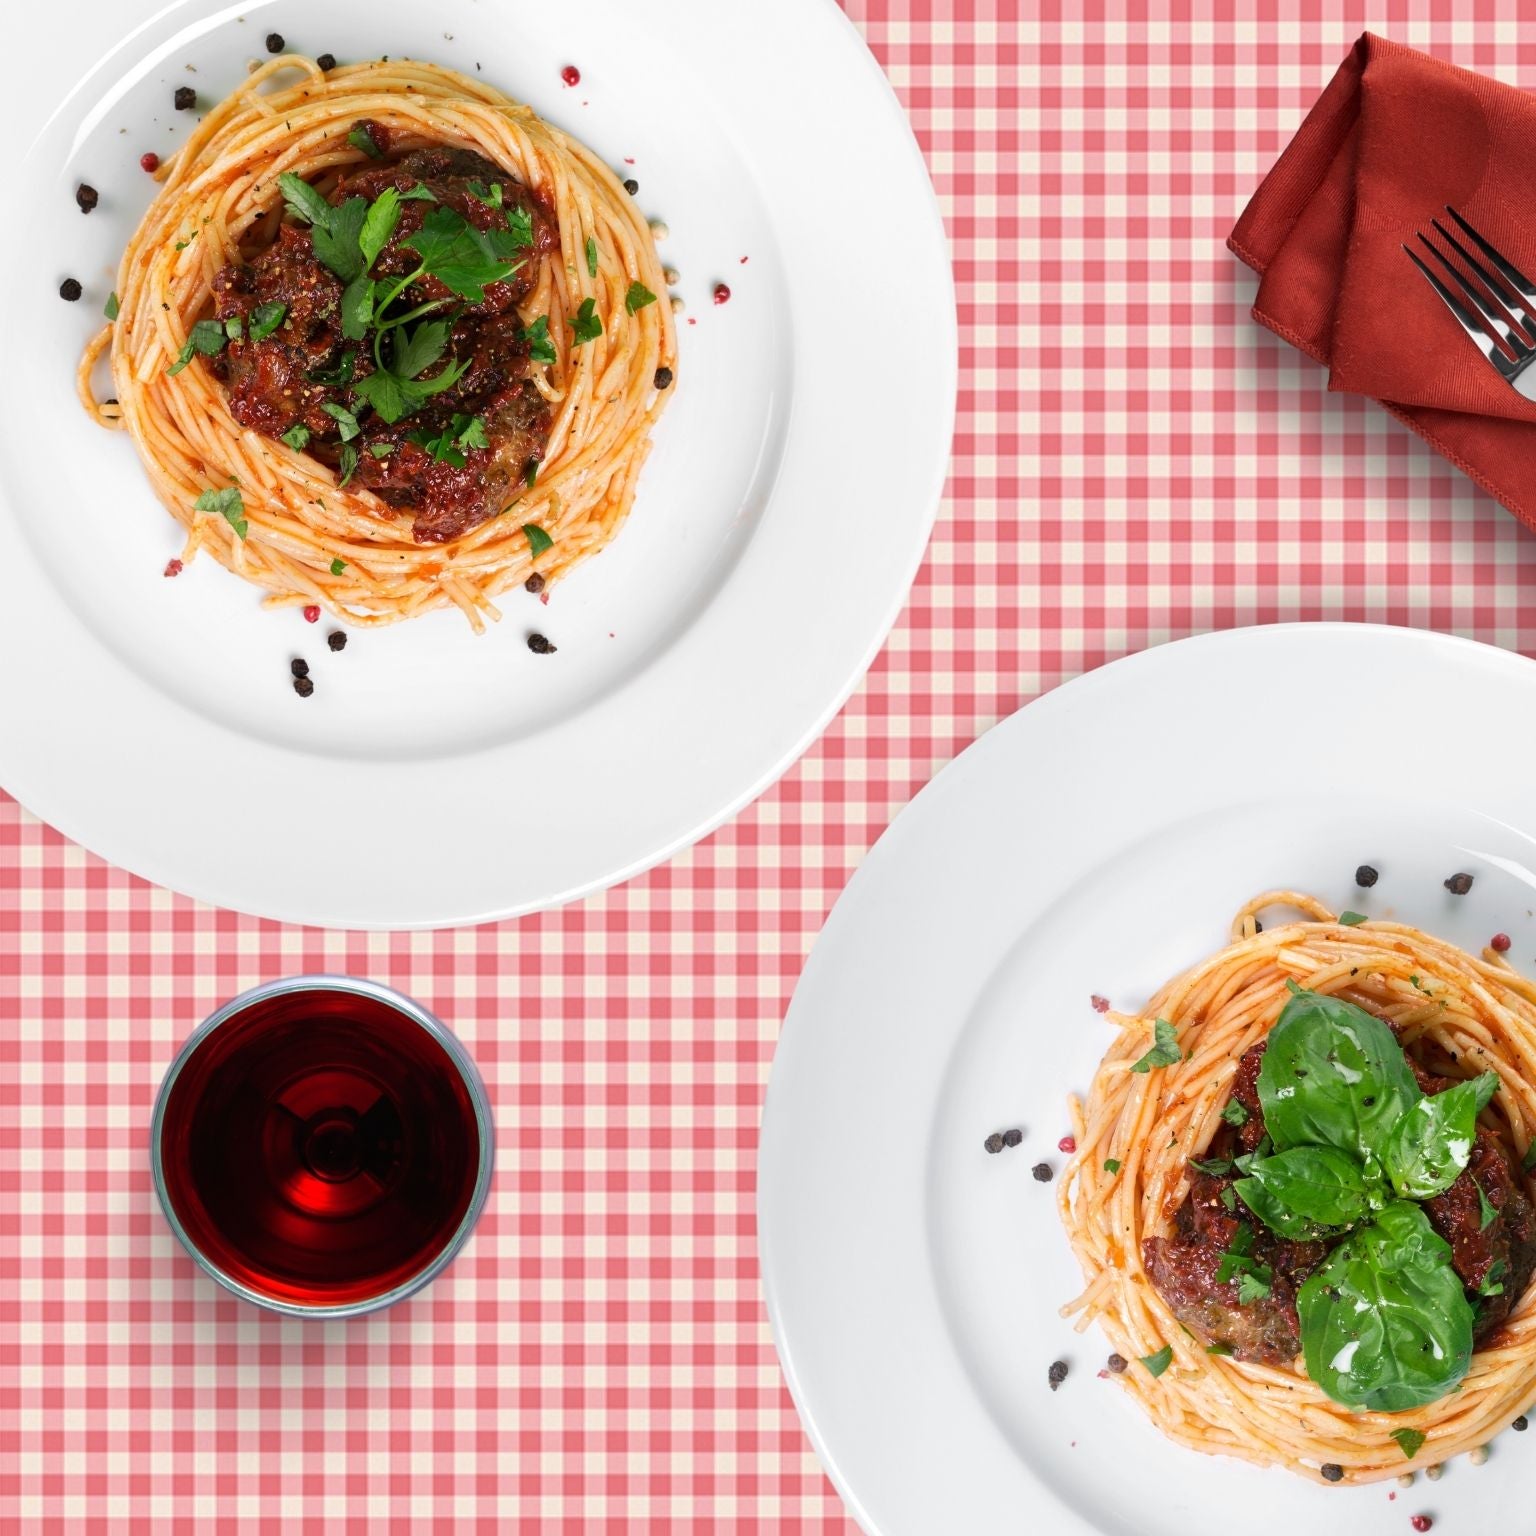
[[[355,386],[373,372],[372,349],[367,341],[343,336],[343,284],[315,258],[309,229],[292,223],[284,223],[260,255],[215,275],[214,313],[221,321],[238,316],[243,335],[214,359],[214,367],[227,386],[235,421],[269,438],[301,425],[309,432],[304,450],[332,468],[341,462],[343,438],[341,424],[326,407],[352,412],[359,425],[352,439],[353,484],[367,487],[390,507],[410,511],[418,544],[447,544],[501,513],[544,459],[551,415],[533,384],[518,306],[538,283],[539,260],[558,249],[556,221],[527,187],[472,151],[433,147],[387,158],[387,129],[378,123],[359,127],[386,158],[344,175],[330,194],[333,206],[352,197],[373,201],[386,187],[399,192],[425,187],[436,200],[401,203],[399,223],[369,269],[372,276],[416,270],[418,258],[404,249],[404,241],[421,229],[435,206],[453,209],[484,230],[505,229],[507,214],[515,207],[531,218],[528,260],[505,281],[487,286],[482,303],[462,304],[430,275],[401,296],[401,307],[410,309],[453,301],[452,309],[441,310],[456,315],[449,349],[424,378],[467,361],[462,378],[393,425],[369,412]],[[502,206],[476,197],[472,183],[482,190],[499,184]],[[283,323],[270,336],[250,341],[244,332],[252,313],[272,303],[287,306]],[[462,464],[435,456],[416,441],[441,435],[456,416],[478,416],[487,444],[461,449],[456,456]]]

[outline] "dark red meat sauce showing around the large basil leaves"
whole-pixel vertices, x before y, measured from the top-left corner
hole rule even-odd
[[[1412,1051],[1407,1055],[1425,1094],[1453,1086],[1452,1078],[1425,1071],[1415,1061]],[[1264,1111],[1258,1100],[1258,1069],[1263,1060],[1264,1043],[1260,1043],[1238,1063],[1232,1097],[1247,1111],[1249,1118],[1236,1129],[1223,1126],[1201,1157],[1203,1163],[1241,1157],[1264,1140]],[[1253,1229],[1252,1258],[1272,1267],[1273,1281],[1267,1296],[1241,1304],[1236,1279],[1217,1284],[1223,1253],[1230,1247],[1246,1215],[1241,1201],[1233,1201],[1235,1210],[1223,1203],[1223,1190],[1238,1177],[1241,1175],[1212,1175],[1190,1169],[1189,1195],[1174,1213],[1172,1232],[1166,1238],[1146,1238],[1141,1260],[1154,1289],[1174,1316],[1206,1344],[1230,1347],[1238,1359],[1289,1366],[1301,1353],[1296,1292],[1335,1243],[1289,1243],[1260,1221],[1249,1220],[1247,1224]],[[1478,1200],[1479,1184],[1496,1210],[1485,1230]],[[1424,1203],[1424,1213],[1452,1247],[1452,1263],[1476,1309],[1475,1339],[1482,1344],[1508,1316],[1536,1270],[1536,1209],[1525,1183],[1499,1143],[1479,1129],[1467,1167],[1450,1189]],[[1488,1281],[1488,1272],[1499,1263],[1504,1266],[1502,1293],[1478,1295],[1479,1287]]]

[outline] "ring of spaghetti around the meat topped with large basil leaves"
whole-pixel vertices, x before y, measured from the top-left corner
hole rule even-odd
[[[1307,920],[1260,928],[1267,908]],[[1058,1206],[1086,1287],[1063,1313],[1077,1315],[1080,1330],[1103,1327],[1132,1362],[1115,1379],[1175,1441],[1316,1481],[1329,1467],[1330,1482],[1373,1482],[1482,1445],[1531,1405],[1536,1287],[1471,1355],[1459,1390],[1398,1413],[1350,1412],[1307,1379],[1299,1359],[1246,1364],[1207,1352],[1180,1326],[1149,1279],[1143,1241],[1167,1233],[1189,1193],[1189,1160],[1221,1129],[1238,1063],[1267,1038],[1287,983],[1364,1008],[1393,1025],[1404,1048],[1496,1072],[1481,1124],[1519,1164],[1536,1134],[1536,986],[1491,949],[1478,958],[1416,928],[1353,915],[1344,925],[1307,895],[1269,892],[1243,908],[1226,949],[1169,982],[1143,1014],[1107,1015],[1118,1037],[1087,1101],[1071,1100],[1077,1150]],[[1163,1034],[1160,1018],[1175,1028],[1177,1060],[1135,1072]]]

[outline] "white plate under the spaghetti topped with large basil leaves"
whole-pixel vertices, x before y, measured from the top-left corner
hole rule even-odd
[[[1066,1095],[1138,1006],[1273,886],[1536,971],[1536,664],[1409,630],[1241,630],[1058,688],[946,768],[811,954],[759,1155],[790,1389],[871,1536],[1445,1536],[1528,1501],[1531,1444],[1413,1488],[1319,1488],[1160,1436],[1057,1316]],[[1381,869],[1370,891],[1359,863]],[[1468,895],[1442,880],[1475,876]],[[982,1141],[1023,1126],[989,1157]],[[1054,1359],[1071,1364],[1060,1392]],[[1452,1519],[1455,1516],[1455,1519]]]

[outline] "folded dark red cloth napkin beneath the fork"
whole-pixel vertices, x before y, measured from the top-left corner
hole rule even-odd
[[[1536,97],[1367,32],[1227,244],[1263,276],[1253,318],[1329,389],[1381,401],[1536,528],[1536,404],[1402,253],[1447,203],[1536,275]]]

